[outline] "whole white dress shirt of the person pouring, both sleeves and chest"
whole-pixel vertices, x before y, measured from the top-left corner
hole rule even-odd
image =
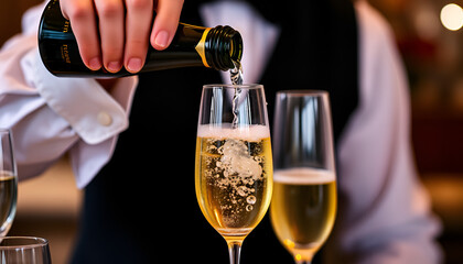
[[[20,179],[39,175],[68,153],[76,184],[84,188],[110,160],[118,134],[129,125],[138,78],[120,79],[116,97],[94,79],[51,75],[36,43],[43,8],[28,11],[23,33],[0,51],[0,128],[13,132]],[[386,21],[366,1],[356,2],[356,13],[359,105],[337,145],[340,199],[347,208],[326,245],[335,252],[327,261],[439,263],[433,242],[439,223],[413,165],[402,64]],[[229,24],[241,33],[245,82],[257,82],[278,26],[241,1],[203,6],[201,14],[206,25]],[[225,73],[224,81],[228,79]]]

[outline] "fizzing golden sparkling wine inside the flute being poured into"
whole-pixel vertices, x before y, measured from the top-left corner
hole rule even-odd
[[[226,240],[245,239],[263,218],[271,178],[268,127],[198,127],[196,197],[207,221]]]

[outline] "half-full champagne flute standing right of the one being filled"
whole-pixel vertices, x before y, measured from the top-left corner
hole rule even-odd
[[[311,263],[330,235],[336,215],[327,92],[277,94],[273,148],[271,223],[295,263]]]

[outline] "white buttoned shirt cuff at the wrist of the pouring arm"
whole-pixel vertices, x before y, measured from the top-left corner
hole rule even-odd
[[[126,86],[127,101],[119,105],[95,79],[58,78],[43,65],[37,50],[24,70],[39,94],[57,114],[63,117],[87,144],[98,144],[127,129],[128,112],[138,78],[122,78],[117,86]]]

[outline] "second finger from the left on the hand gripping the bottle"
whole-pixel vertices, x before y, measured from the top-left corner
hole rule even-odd
[[[122,0],[95,0],[105,68],[117,73],[122,67],[125,7]]]

